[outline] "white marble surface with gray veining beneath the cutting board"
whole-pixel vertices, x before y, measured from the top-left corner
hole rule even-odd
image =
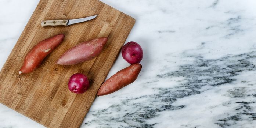
[[[0,0],[0,67],[39,0]],[[101,0],[136,19],[136,82],[96,98],[82,128],[256,127],[255,0]],[[108,77],[127,67],[119,56]],[[0,128],[42,125],[0,104]]]

